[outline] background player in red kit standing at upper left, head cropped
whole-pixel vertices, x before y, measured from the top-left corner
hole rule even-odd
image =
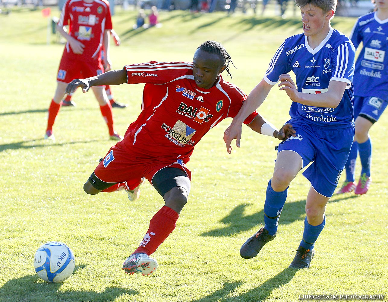
[[[69,25],[69,33],[64,26]],[[92,77],[104,72],[103,65],[111,68],[109,58],[109,31],[112,29],[111,12],[106,0],[68,0],[61,12],[57,31],[66,38],[57,75],[57,89],[49,107],[49,117],[45,139],[55,140],[52,126],[61,108],[67,83],[82,77]],[[104,45],[106,55],[101,61],[101,47]],[[104,86],[92,88],[99,102],[102,117],[113,140],[121,140],[114,130],[111,103],[104,93]]]

